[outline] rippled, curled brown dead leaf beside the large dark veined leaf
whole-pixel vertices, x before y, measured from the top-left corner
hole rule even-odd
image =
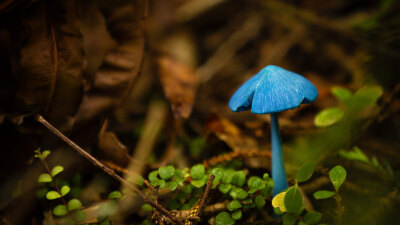
[[[100,6],[107,30],[115,44],[107,49],[102,65],[87,80],[74,122],[85,122],[103,115],[128,96],[143,59],[141,21],[147,14],[146,3],[140,0],[120,1],[105,2],[105,5]],[[90,32],[86,34],[84,38],[96,39],[90,36]]]

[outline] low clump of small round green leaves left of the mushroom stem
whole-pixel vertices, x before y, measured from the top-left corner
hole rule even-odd
[[[154,198],[157,198],[158,190],[171,192],[172,198],[166,205],[185,224],[199,220],[205,205],[210,202],[210,191],[219,192],[226,210],[216,215],[215,223],[235,224],[242,219],[244,210],[262,209],[273,189],[273,181],[268,174],[248,177],[239,166],[228,163],[206,168],[203,164],[196,164],[190,169],[180,170],[169,165],[150,172],[148,181],[144,183],[153,190]],[[144,204],[142,210],[153,212],[154,209]],[[143,223],[147,223],[145,221]]]

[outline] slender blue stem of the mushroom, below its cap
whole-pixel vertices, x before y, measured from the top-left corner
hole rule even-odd
[[[279,194],[288,188],[285,164],[283,162],[283,152],[281,136],[279,134],[278,113],[271,113],[271,147],[272,147],[272,179],[274,189],[272,196]]]

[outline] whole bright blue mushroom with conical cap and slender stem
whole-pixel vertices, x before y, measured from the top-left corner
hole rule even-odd
[[[246,81],[231,97],[229,108],[234,112],[247,111],[271,114],[273,196],[288,188],[283,162],[278,112],[311,103],[318,97],[317,88],[297,73],[269,65]]]

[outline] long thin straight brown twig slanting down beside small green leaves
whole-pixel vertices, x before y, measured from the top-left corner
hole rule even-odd
[[[120,177],[118,174],[116,174],[114,172],[114,170],[108,168],[106,165],[101,163],[99,160],[97,160],[92,155],[90,155],[85,150],[83,150],[81,147],[79,147],[77,144],[75,144],[75,142],[71,141],[67,136],[65,136],[63,133],[61,133],[57,128],[55,128],[53,125],[51,125],[49,122],[47,122],[47,120],[45,120],[41,115],[36,115],[36,120],[39,123],[41,123],[43,126],[45,126],[47,129],[49,129],[51,132],[53,132],[57,137],[59,137],[65,143],[67,143],[70,147],[75,149],[79,154],[81,154],[83,157],[85,157],[87,160],[89,160],[93,165],[99,167],[104,172],[106,172],[108,175],[112,176],[114,179],[119,181],[121,184],[130,188],[133,192],[135,192],[137,195],[139,195],[143,199],[144,202],[147,202],[150,205],[152,205],[154,208],[156,208],[158,211],[160,211],[162,214],[164,214],[166,217],[168,217],[174,223],[179,224],[179,225],[184,225],[182,221],[180,221],[176,217],[174,217],[163,206],[161,206],[160,204],[157,204],[156,202],[149,199],[139,189],[137,189],[132,184],[130,184],[128,181],[126,181],[125,179]]]

